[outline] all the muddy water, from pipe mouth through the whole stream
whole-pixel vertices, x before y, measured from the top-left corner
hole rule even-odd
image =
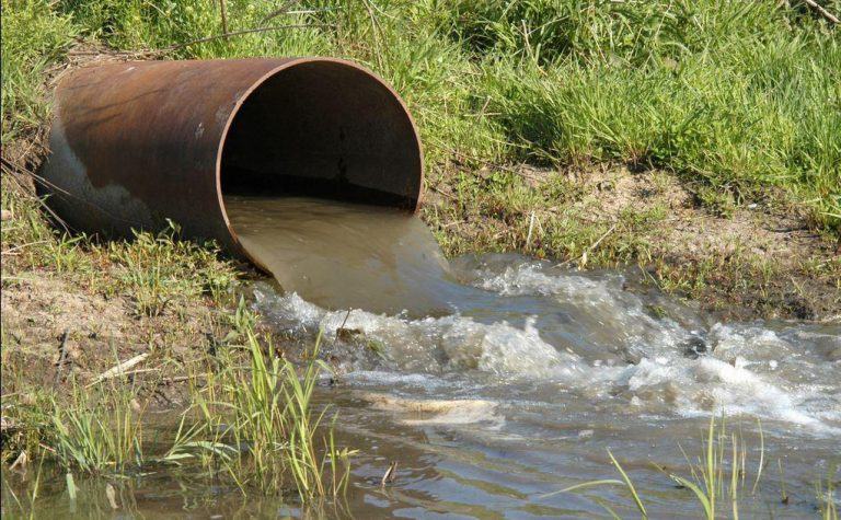
[[[606,518],[599,501],[638,517],[617,487],[552,494],[617,478],[610,449],[652,518],[701,518],[692,493],[654,465],[690,477],[687,458],[701,455],[710,417],[721,414],[746,450],[740,516],[818,516],[814,484],[841,455],[841,324],[719,323],[626,274],[517,255],[447,265],[412,218],[288,204],[303,211],[284,219],[283,240],[260,231],[265,210],[232,220],[295,287],[256,284],[256,309],[301,346],[323,333],[335,374],[318,398],[339,413],[341,442],[360,450],[346,504],[354,517]],[[308,243],[297,234],[304,228],[333,242]],[[396,478],[383,488],[393,461]],[[55,482],[41,507],[64,513]],[[129,518],[301,515],[188,474],[129,479],[120,493]],[[108,516],[101,487],[91,496]]]

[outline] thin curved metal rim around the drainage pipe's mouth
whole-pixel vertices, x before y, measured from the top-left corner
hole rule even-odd
[[[284,70],[291,69],[293,67],[297,67],[303,63],[313,63],[313,62],[336,63],[336,65],[355,69],[359,72],[362,72],[365,76],[367,76],[371,80],[378,82],[380,85],[384,86],[389,91],[389,93],[391,93],[394,96],[394,100],[398,101],[401,109],[405,114],[406,119],[408,120],[412,127],[412,132],[415,137],[415,141],[417,142],[418,165],[420,166],[419,167],[420,182],[418,185],[419,189],[417,194],[417,201],[415,203],[415,207],[412,210],[413,213],[417,212],[424,196],[424,177],[425,177],[424,148],[423,148],[423,142],[420,141],[420,132],[417,129],[417,125],[415,124],[414,117],[412,117],[412,113],[408,112],[408,107],[406,106],[406,103],[403,101],[403,97],[401,97],[400,94],[398,94],[394,88],[392,88],[382,78],[373,73],[373,71],[371,71],[370,69],[346,59],[313,56],[313,57],[304,57],[304,58],[293,58],[288,62],[279,65],[274,69],[269,70],[268,72],[266,72],[265,74],[263,74],[262,77],[260,77],[254,83],[252,83],[251,86],[249,86],[245,91],[243,91],[240,97],[237,100],[237,103],[234,104],[230,115],[228,116],[228,119],[224,123],[224,128],[222,129],[222,134],[219,137],[219,147],[216,152],[216,166],[215,166],[216,197],[219,204],[219,209],[222,212],[222,221],[224,222],[224,226],[228,229],[228,233],[231,238],[231,241],[233,242],[233,245],[239,253],[245,256],[253,265],[257,266],[260,269],[266,273],[269,273],[269,269],[265,265],[263,265],[260,261],[257,261],[257,258],[255,258],[254,255],[249,253],[247,249],[245,249],[242,245],[242,243],[240,242],[240,238],[237,235],[237,231],[234,230],[233,226],[231,226],[231,221],[228,218],[228,210],[224,207],[224,196],[222,194],[222,151],[224,150],[224,143],[228,140],[228,132],[231,129],[231,125],[233,124],[233,120],[237,118],[237,115],[239,114],[240,108],[242,108],[242,105],[249,100],[249,97],[251,96],[252,93],[254,93],[254,91],[260,89],[266,81],[268,81],[276,74],[283,72]]]

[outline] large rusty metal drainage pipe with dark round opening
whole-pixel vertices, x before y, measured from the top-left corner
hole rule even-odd
[[[265,269],[224,195],[306,195],[414,211],[417,130],[400,96],[338,59],[146,61],[74,71],[56,90],[48,205],[110,235],[177,222]]]

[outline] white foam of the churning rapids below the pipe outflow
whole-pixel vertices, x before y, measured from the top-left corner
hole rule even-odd
[[[569,326],[578,327],[575,334],[586,335],[581,345],[591,349],[589,357],[567,345],[556,348],[546,343],[534,316],[521,326],[505,321],[480,323],[458,314],[407,320],[358,310],[327,312],[295,294],[275,299],[272,309],[286,320],[323,330],[326,338],[344,326],[381,344],[393,372],[347,375],[360,383],[400,383],[446,393],[446,386],[453,383],[445,383],[439,375],[471,381],[475,379],[471,374],[481,372],[496,378],[498,385],[557,381],[580,398],[608,401],[626,395],[624,403],[630,402],[635,414],[656,409],[658,414],[694,416],[724,408],[821,434],[841,431],[838,363],[827,362],[819,349],[808,348],[818,339],[829,345],[821,347],[825,350],[834,348],[831,335],[802,332],[795,325],[773,330],[759,322],[715,324],[706,333],[707,354],[695,359],[687,356],[684,342],[702,337],[703,332],[649,316],[643,301],[622,289],[619,276],[594,279],[525,263],[482,273],[476,279],[477,286],[499,298],[545,297],[546,312],[571,315]],[[629,353],[636,365],[622,366],[621,357],[610,359],[618,363],[604,362],[614,349]],[[483,379],[483,383],[487,381]]]

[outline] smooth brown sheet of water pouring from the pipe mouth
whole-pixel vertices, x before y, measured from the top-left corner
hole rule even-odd
[[[284,287],[325,309],[425,316],[463,290],[424,223],[392,208],[226,197],[243,246]]]

